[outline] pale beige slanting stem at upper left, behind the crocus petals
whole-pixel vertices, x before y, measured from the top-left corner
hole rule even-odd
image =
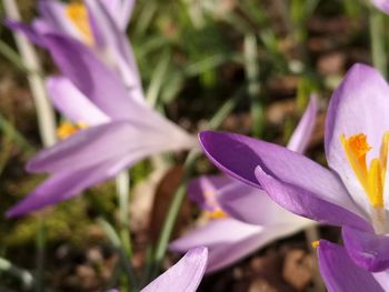
[[[3,0],[4,11],[8,18],[20,21],[20,13],[14,0]],[[28,81],[37,108],[39,132],[44,147],[52,145],[56,138],[54,111],[47,97],[44,82],[39,74],[41,66],[34,48],[24,36],[14,33],[14,40],[21,54],[24,67],[30,72]]]

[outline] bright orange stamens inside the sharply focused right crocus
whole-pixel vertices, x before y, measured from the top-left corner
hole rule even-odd
[[[349,138],[342,134],[340,141],[356,177],[369,198],[371,207],[375,209],[373,221],[377,223],[375,225],[383,226],[383,188],[387,173],[389,132],[382,135],[379,157],[370,161],[369,168],[367,165],[366,154],[371,150],[371,147],[367,142],[366,134],[359,133]]]

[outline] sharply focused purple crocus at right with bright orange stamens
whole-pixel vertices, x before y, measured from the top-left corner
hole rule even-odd
[[[387,155],[389,87],[375,69],[353,66],[335,91],[325,147],[331,170],[286,148],[248,137],[202,132],[212,162],[263,189],[285,209],[342,226],[345,246],[360,266],[389,266]]]

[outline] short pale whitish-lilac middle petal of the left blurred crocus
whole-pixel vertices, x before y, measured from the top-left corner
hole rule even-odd
[[[86,123],[88,127],[110,121],[109,117],[66,77],[50,77],[46,85],[54,107],[71,121]]]

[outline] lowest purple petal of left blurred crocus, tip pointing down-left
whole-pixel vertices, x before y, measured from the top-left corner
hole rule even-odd
[[[20,217],[78,195],[84,189],[114,177],[131,158],[108,160],[77,171],[62,171],[44,181],[32,193],[7,211],[7,217]]]

